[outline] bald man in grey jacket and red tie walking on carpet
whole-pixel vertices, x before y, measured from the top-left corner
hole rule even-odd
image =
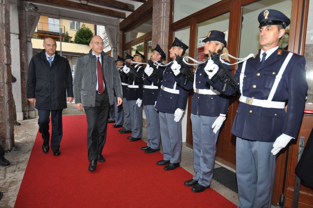
[[[77,59],[74,72],[74,98],[79,111],[85,109],[87,117],[88,170],[103,163],[102,149],[106,139],[107,120],[113,108],[114,93],[117,106],[122,104],[121,78],[115,60],[103,52],[103,40],[95,35],[90,39],[89,54]]]

